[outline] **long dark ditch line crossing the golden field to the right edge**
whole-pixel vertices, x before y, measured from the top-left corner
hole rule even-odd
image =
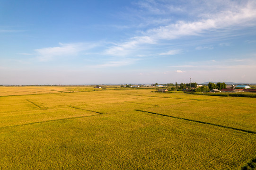
[[[165,114],[161,114],[161,113],[154,113],[154,112],[144,111],[144,110],[137,110],[137,109],[136,109],[136,111],[151,113],[151,114],[160,115],[160,116],[166,116],[166,117],[170,117],[170,118],[174,118],[174,119],[182,119],[182,120],[187,120],[187,121],[192,121],[192,122],[197,122],[197,123],[202,123],[202,124],[207,124],[207,125],[212,125],[212,126],[217,126],[217,127],[230,128],[230,129],[233,129],[233,130],[238,130],[238,131],[242,131],[242,132],[247,132],[247,133],[251,133],[251,134],[256,134],[256,132],[254,132],[254,131],[239,129],[239,128],[236,128],[236,127],[228,127],[228,126],[218,125],[218,124],[209,123],[209,122],[203,122],[203,121],[200,121],[200,120],[179,118],[179,117],[175,117],[175,116],[165,115]]]

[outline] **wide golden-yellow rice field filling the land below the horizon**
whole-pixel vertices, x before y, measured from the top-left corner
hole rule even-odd
[[[256,166],[256,98],[113,89],[0,87],[0,170]]]

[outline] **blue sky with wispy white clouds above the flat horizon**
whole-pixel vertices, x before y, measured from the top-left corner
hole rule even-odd
[[[0,85],[256,83],[256,0],[0,0]]]

